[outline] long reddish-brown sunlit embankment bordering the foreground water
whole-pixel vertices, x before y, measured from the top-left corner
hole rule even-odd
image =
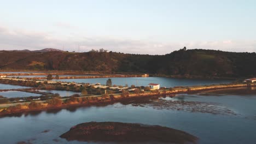
[[[0,110],[0,116],[10,115],[12,113],[19,113],[19,112],[30,112],[30,111],[42,111],[42,110],[49,110],[49,109],[64,109],[70,106],[91,106],[91,105],[106,105],[106,104],[113,104],[118,102],[125,102],[125,101],[139,101],[141,99],[150,99],[150,98],[159,98],[162,96],[169,95],[174,97],[175,94],[181,93],[198,93],[203,91],[210,91],[210,90],[217,90],[217,89],[228,89],[228,88],[240,88],[240,87],[248,87],[247,84],[236,84],[236,85],[211,85],[211,86],[201,86],[201,87],[187,87],[187,88],[179,88],[179,89],[165,89],[161,91],[150,91],[144,93],[132,93],[132,94],[106,94],[106,95],[91,95],[91,96],[84,96],[84,97],[71,97],[60,99],[58,104],[53,100],[46,100],[36,102],[33,101],[31,103],[19,103],[15,106],[5,107]],[[256,87],[255,83],[252,83],[251,87]],[[35,107],[30,106],[36,105]],[[1,106],[0,106],[1,107]]]

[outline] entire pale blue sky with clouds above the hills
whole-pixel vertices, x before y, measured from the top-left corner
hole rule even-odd
[[[0,50],[256,52],[256,1],[0,0]]]

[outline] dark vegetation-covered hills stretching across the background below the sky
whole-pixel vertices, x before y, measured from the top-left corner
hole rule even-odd
[[[183,49],[160,56],[117,52],[0,51],[0,69],[251,77],[256,75],[256,54]]]

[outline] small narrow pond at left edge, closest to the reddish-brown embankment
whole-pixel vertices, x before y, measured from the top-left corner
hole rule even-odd
[[[42,94],[19,92],[19,91],[7,91],[7,92],[0,92],[0,95],[6,98],[17,98],[17,97],[40,96]]]

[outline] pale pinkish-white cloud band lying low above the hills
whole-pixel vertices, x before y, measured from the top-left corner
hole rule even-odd
[[[60,37],[62,36],[62,37]],[[91,49],[107,49],[124,53],[143,53],[162,55],[182,49],[212,49],[234,52],[255,52],[256,40],[222,40],[222,41],[193,41],[185,43],[157,43],[147,40],[132,40],[112,37],[54,35],[53,33],[26,31],[23,29],[8,29],[0,27],[0,50],[39,50],[48,47],[80,52]]]

